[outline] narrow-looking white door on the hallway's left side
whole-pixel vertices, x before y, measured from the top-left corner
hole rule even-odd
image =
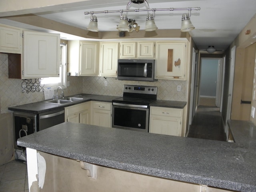
[[[189,110],[189,125],[192,124],[192,120],[194,117],[194,114],[196,112],[196,108],[195,108],[195,101],[194,101],[194,97],[195,97],[195,80],[196,80],[196,50],[193,48],[193,55],[192,55],[192,71],[191,71],[191,84],[190,84],[190,110]]]

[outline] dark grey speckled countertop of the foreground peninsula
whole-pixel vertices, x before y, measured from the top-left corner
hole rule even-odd
[[[65,122],[18,145],[160,178],[256,191],[256,150],[244,144]]]

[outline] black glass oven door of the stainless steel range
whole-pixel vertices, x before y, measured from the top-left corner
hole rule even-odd
[[[112,127],[148,132],[148,108],[140,108],[136,105],[132,105],[132,107],[116,106],[113,104],[112,114]]]

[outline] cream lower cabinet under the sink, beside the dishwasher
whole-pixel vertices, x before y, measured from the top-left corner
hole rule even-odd
[[[90,102],[65,107],[65,122],[90,124]]]

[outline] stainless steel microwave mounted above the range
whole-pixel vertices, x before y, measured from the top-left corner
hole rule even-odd
[[[118,59],[118,80],[156,81],[154,59]]]

